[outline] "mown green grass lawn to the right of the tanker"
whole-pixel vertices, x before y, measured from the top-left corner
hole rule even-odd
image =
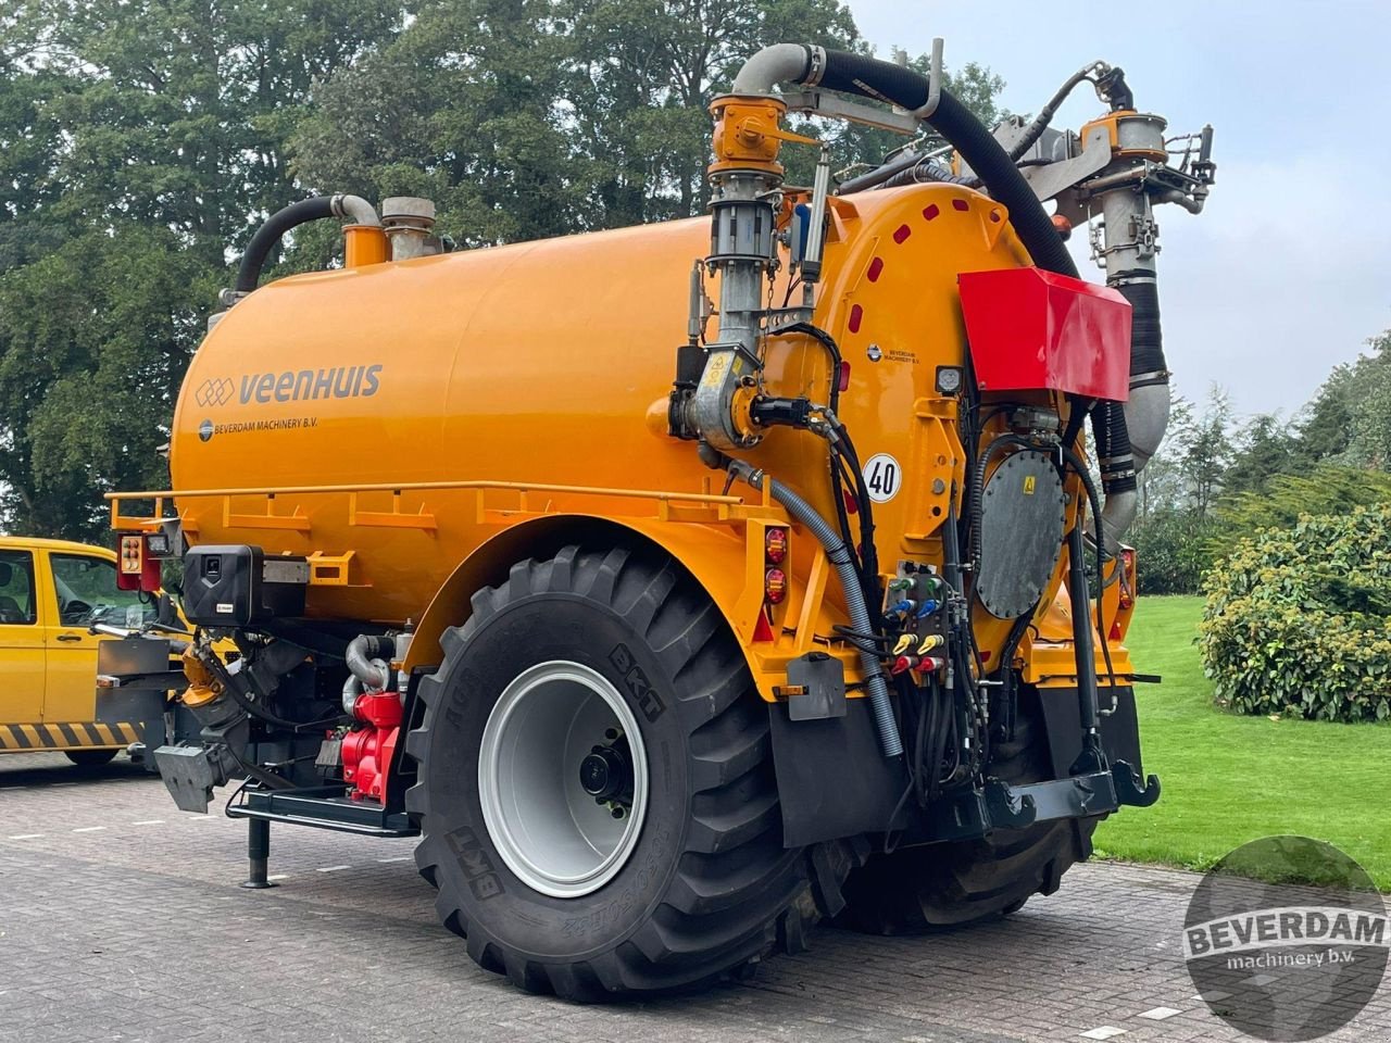
[[[1195,637],[1202,598],[1141,598],[1129,631],[1153,808],[1123,808],[1099,855],[1206,869],[1256,837],[1296,833],[1358,859],[1391,891],[1391,726],[1270,720],[1212,704]]]

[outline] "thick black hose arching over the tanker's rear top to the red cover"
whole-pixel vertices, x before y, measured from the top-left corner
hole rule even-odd
[[[912,111],[928,100],[929,83],[921,72],[901,65],[862,54],[828,50],[819,86],[846,95],[872,97]],[[990,196],[1008,209],[1010,223],[1034,263],[1047,271],[1077,278],[1077,266],[1063,245],[1057,228],[1053,227],[1053,218],[1034,195],[1034,189],[1010,160],[1008,153],[971,110],[951,92],[943,90],[936,111],[926,122],[961,153],[961,159],[981,178]]]

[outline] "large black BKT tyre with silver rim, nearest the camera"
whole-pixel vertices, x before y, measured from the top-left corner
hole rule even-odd
[[[522,562],[442,644],[406,807],[481,967],[572,1000],[665,992],[801,951],[844,907],[865,846],[783,848],[768,709],[670,559]]]

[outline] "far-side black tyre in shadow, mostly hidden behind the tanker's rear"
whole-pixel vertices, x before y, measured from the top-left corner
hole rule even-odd
[[[1038,695],[1020,694],[1014,738],[996,747],[990,775],[1011,783],[1047,777]],[[1042,822],[960,840],[872,854],[846,882],[837,925],[874,935],[912,935],[1017,912],[1032,894],[1052,894],[1092,854],[1099,819]]]

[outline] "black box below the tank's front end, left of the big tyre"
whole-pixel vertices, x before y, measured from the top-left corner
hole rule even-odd
[[[184,555],[184,615],[202,627],[246,627],[305,615],[309,562],[259,547],[195,547]]]

